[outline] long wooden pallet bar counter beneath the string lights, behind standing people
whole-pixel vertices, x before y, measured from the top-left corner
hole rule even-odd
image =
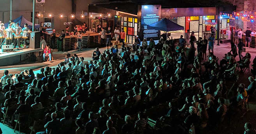
[[[59,36],[60,34],[56,34],[55,48],[57,48],[57,39]],[[99,46],[99,44],[101,44],[101,34],[99,33],[81,34],[81,36],[82,36],[81,48],[94,48]],[[77,35],[65,36],[63,40],[63,46],[62,46],[64,51],[77,48],[76,37]],[[45,41],[47,44],[51,44],[51,33],[46,34]]]

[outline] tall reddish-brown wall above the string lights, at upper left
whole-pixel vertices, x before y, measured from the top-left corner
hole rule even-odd
[[[88,15],[85,18],[81,18],[82,10],[88,11],[88,4],[96,2],[108,2],[108,0],[76,0],[76,18],[82,22],[88,22]],[[60,19],[59,15],[64,14],[68,16],[68,21],[71,22],[70,15],[72,14],[71,0],[45,0],[44,6],[40,3],[36,3],[35,11],[43,14],[44,17],[48,17],[48,14],[53,14],[54,28],[56,32],[60,32],[65,29],[64,22],[67,18]],[[0,0],[0,21],[8,22],[10,20],[10,0]],[[28,21],[31,21],[31,12],[33,7],[33,0],[13,0],[12,3],[12,19],[16,19],[20,15],[23,15]],[[40,17],[38,23],[43,22],[43,18]]]

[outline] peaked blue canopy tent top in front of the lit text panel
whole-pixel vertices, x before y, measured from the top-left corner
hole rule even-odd
[[[183,26],[180,26],[169,19],[161,19],[161,21],[155,22],[153,24],[148,25],[147,29],[155,29],[159,31],[177,31],[177,30],[184,30]]]

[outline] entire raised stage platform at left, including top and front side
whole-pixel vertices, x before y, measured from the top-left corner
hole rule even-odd
[[[2,52],[2,50],[0,50],[0,66],[18,64],[22,60],[25,60],[26,55],[29,55],[30,53],[33,53],[33,52],[39,52],[40,50],[41,48],[37,48],[37,49],[26,48],[26,49],[20,49],[20,50],[15,49],[12,52]]]

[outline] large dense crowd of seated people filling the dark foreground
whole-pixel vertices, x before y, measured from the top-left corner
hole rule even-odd
[[[57,67],[36,75],[30,69],[10,76],[6,70],[2,116],[8,113],[7,122],[14,126],[27,113],[23,131],[43,120],[37,134],[187,134],[219,127],[234,108],[244,112],[247,96],[256,88],[254,77],[247,89],[243,83],[227,89],[226,82],[238,76],[238,67],[246,67],[249,53],[240,62],[228,53],[219,65],[213,53],[203,62],[200,55],[186,57],[186,48],[157,45],[151,46],[149,57],[142,47],[131,53],[129,47],[118,52],[115,46],[102,53],[96,48],[88,64],[67,54]],[[160,49],[163,58],[157,56]],[[152,127],[149,120],[159,123]]]

